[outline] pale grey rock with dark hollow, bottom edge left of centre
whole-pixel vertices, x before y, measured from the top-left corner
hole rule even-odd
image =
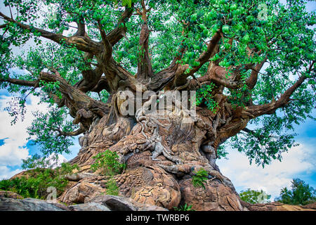
[[[100,195],[91,199],[89,203],[100,203],[112,211],[168,211],[163,207],[142,204],[131,198],[114,195]]]

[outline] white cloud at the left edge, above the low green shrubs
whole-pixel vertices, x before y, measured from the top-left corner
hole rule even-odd
[[[7,166],[19,166],[22,164],[22,159],[29,157],[29,150],[26,147],[27,137],[29,136],[27,127],[34,120],[32,112],[36,110],[45,112],[47,110],[44,107],[45,105],[38,105],[38,97],[29,96],[28,98],[30,98],[30,103],[26,103],[27,112],[25,113],[25,119],[11,125],[13,118],[8,115],[7,111],[4,111],[4,108],[8,106],[7,103],[12,100],[12,97],[0,96],[0,139],[5,139],[4,145],[0,146],[0,178],[13,173]]]

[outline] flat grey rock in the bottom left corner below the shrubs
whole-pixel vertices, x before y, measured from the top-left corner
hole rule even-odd
[[[0,198],[0,211],[65,211],[58,205],[34,198]]]

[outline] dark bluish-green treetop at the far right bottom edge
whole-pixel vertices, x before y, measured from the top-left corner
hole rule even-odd
[[[285,187],[281,189],[279,194],[279,198],[275,200],[284,204],[307,205],[316,201],[315,188],[298,178],[291,181],[291,190]]]

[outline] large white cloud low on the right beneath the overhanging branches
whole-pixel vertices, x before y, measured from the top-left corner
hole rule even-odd
[[[242,153],[232,151],[229,160],[218,160],[217,164],[223,175],[232,180],[237,191],[251,188],[263,190],[272,195],[271,200],[279,196],[281,188],[291,185],[291,180],[298,174],[316,172],[316,158],[312,146],[300,144],[282,154],[282,162],[274,160],[265,168],[249,165],[249,160]]]

